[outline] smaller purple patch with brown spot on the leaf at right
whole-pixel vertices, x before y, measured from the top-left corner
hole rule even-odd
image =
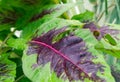
[[[116,36],[116,34],[120,34],[120,30],[110,29],[108,26],[103,26],[98,28],[93,22],[85,24],[83,26],[84,29],[90,29],[93,32],[93,35],[96,39],[101,40],[106,34],[110,34],[112,36]]]

